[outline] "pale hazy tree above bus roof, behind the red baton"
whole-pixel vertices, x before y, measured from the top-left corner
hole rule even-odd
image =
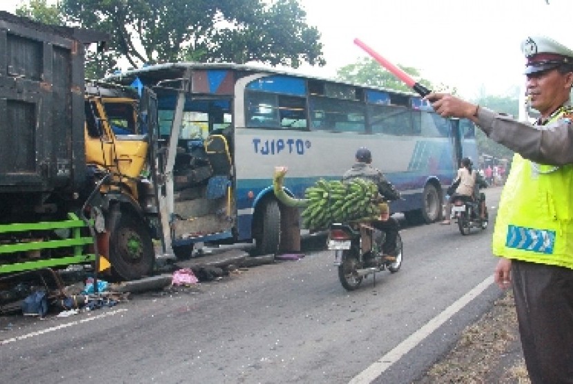
[[[401,66],[400,64],[398,64],[398,67],[429,89],[442,90],[444,88],[443,85],[432,86],[429,80],[420,78],[420,73],[416,68]],[[347,81],[353,84],[412,92],[411,88],[402,83],[400,79],[397,79],[396,76],[380,66],[376,60],[368,57],[362,57],[356,64],[348,64],[347,66],[339,68],[336,71],[336,78],[340,81]]]

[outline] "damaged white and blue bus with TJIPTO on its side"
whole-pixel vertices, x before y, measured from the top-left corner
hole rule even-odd
[[[175,253],[251,240],[258,253],[292,250],[299,216],[273,195],[275,166],[302,198],[365,146],[402,193],[392,211],[434,222],[460,158],[477,159],[472,122],[444,119],[414,93],[237,64],[159,64],[108,81],[157,95],[155,182]]]

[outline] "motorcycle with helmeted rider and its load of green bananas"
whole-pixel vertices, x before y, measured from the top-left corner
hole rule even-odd
[[[402,238],[398,221],[390,216],[387,202],[400,193],[371,165],[367,148],[356,152],[356,163],[342,180],[318,180],[305,191],[305,199],[287,195],[282,187],[286,168],[275,168],[273,187],[288,207],[304,208],[302,221],[311,231],[328,229],[327,247],[334,251],[338,278],[353,291],[364,278],[402,265]]]

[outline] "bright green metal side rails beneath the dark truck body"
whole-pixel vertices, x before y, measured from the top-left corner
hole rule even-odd
[[[32,271],[47,267],[61,267],[71,264],[84,264],[95,261],[95,255],[84,254],[87,244],[93,244],[91,236],[81,236],[81,229],[87,227],[86,222],[81,220],[74,213],[68,213],[68,220],[57,222],[32,222],[14,223],[0,225],[0,233],[18,233],[34,231],[49,231],[53,229],[70,229],[70,238],[64,240],[16,242],[11,244],[0,244],[0,275],[3,273],[13,273],[21,271]],[[30,260],[26,262],[13,262],[7,264],[3,255],[15,252],[38,251],[42,249],[69,249],[65,251],[67,256]]]

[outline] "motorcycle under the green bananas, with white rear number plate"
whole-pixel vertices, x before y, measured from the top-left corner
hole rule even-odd
[[[362,280],[387,269],[396,273],[402,265],[402,238],[396,236],[396,257],[388,260],[382,255],[386,233],[367,223],[335,223],[328,232],[327,248],[334,251],[334,265],[338,267],[338,279],[347,291],[357,289]],[[366,257],[369,256],[369,257]]]

